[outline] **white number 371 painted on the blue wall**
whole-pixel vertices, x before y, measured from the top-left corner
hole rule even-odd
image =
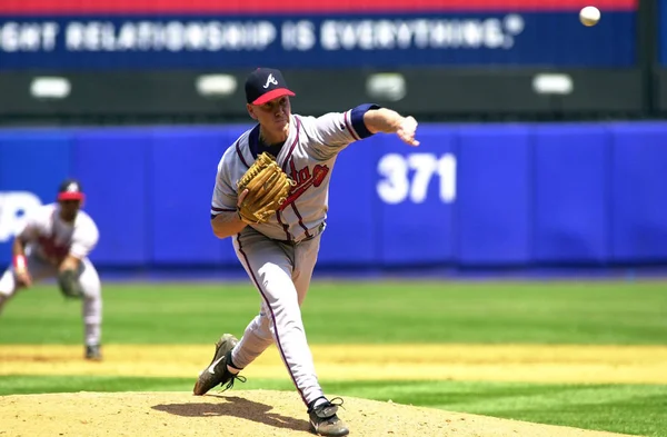
[[[440,201],[456,200],[456,157],[451,153],[389,153],[378,162],[378,196],[386,203],[422,203],[431,180],[437,179]]]

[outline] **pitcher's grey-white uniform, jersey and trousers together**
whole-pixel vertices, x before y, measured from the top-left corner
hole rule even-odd
[[[260,314],[232,350],[238,368],[252,362],[273,341],[306,405],[323,396],[310,354],[300,305],[306,298],[326,226],[331,170],[350,142],[371,136],[364,115],[377,106],[319,118],[290,116],[287,141],[278,151],[259,139],[259,126],[245,132],[218,166],[211,217],[236,211],[236,183],[262,151],[297,182],[281,210],[267,224],[249,225],[233,237],[237,256],[261,295]]]

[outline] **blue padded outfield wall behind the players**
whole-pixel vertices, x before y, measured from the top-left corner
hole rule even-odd
[[[237,266],[209,208],[248,126],[0,130],[0,261],[24,208],[78,177],[101,267]],[[424,125],[351,145],[319,266],[667,264],[667,123]]]

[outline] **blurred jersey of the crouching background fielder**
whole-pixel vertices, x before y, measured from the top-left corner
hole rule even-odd
[[[97,225],[88,213],[79,210],[74,222],[67,224],[60,218],[59,210],[59,203],[34,209],[17,236],[27,244],[31,255],[54,266],[68,255],[78,259],[88,257],[99,239]]]

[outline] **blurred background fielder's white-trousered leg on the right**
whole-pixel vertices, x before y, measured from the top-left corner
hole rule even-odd
[[[84,327],[87,358],[99,359],[99,346],[102,337],[102,286],[100,277],[89,259],[81,260],[79,270],[79,281],[83,289],[81,318]]]

